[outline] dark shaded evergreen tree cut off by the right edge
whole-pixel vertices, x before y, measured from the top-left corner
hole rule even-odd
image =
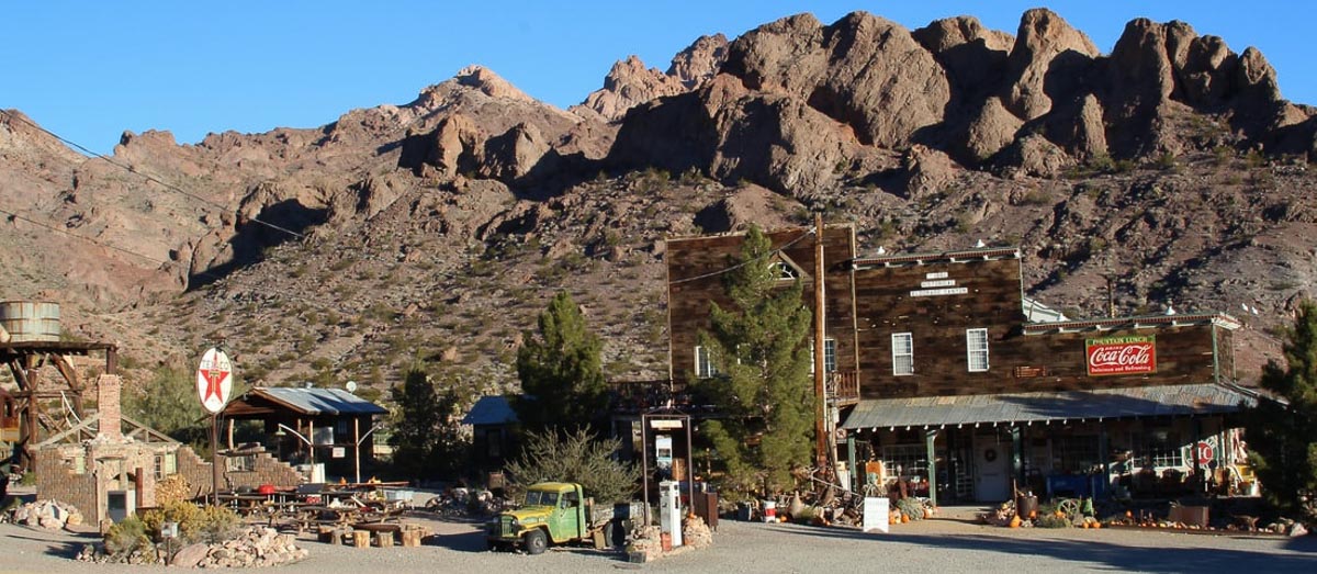
[[[1284,328],[1285,366],[1271,361],[1262,388],[1281,400],[1262,399],[1249,416],[1251,462],[1267,498],[1313,517],[1317,496],[1317,304],[1304,301],[1295,325]]]

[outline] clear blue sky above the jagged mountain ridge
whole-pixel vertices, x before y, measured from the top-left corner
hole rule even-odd
[[[799,12],[826,24],[868,11],[914,29],[957,14],[1015,33],[1038,1],[22,1],[4,8],[0,108],[108,153],[122,130],[209,132],[328,124],[411,101],[469,63],[558,107],[636,54],[666,70],[702,34],[728,38]],[[1281,93],[1317,104],[1308,1],[1052,1],[1110,51],[1135,17],[1183,20],[1234,51],[1256,46]]]

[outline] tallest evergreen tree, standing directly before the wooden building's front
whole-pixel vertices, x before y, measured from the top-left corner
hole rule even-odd
[[[732,308],[710,304],[711,332],[699,333],[716,370],[701,386],[724,415],[705,428],[741,490],[789,487],[814,445],[813,315],[801,280],[782,280],[772,253],[772,241],[751,226],[724,275]]]

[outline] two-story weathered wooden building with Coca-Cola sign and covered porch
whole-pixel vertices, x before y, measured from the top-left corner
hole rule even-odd
[[[1023,295],[1015,248],[857,255],[848,225],[768,236],[764,265],[805,280],[802,303],[826,317],[823,427],[856,487],[1169,495],[1242,462],[1231,413],[1255,395],[1235,384],[1227,315],[1072,320]],[[668,244],[676,384],[716,377],[698,332],[709,303],[727,303],[720,271],[743,237]]]

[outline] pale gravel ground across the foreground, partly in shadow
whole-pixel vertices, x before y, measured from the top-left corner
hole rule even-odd
[[[303,545],[311,557],[281,573],[826,573],[826,571],[1154,571],[1317,573],[1317,537],[1208,536],[1131,529],[1008,529],[973,524],[968,511],[894,527],[888,535],[843,528],[723,521],[714,546],[632,565],[616,552],[553,549],[544,556],[485,552],[479,524],[416,519],[435,529],[423,548]],[[3,573],[136,573],[166,567],[70,560],[94,533],[0,524]]]

